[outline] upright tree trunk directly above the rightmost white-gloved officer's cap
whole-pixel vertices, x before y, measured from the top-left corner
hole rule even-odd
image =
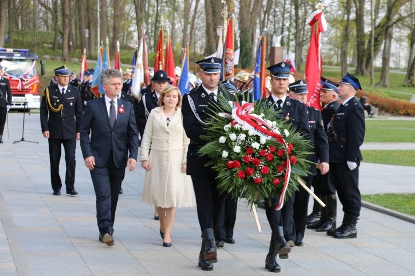
[[[354,0],[356,6],[356,51],[357,51],[357,66],[356,66],[356,74],[368,76],[369,73],[366,70],[365,63],[366,57],[365,55],[365,34],[364,34],[364,24],[365,24],[365,17],[364,17],[364,5],[365,0]]]

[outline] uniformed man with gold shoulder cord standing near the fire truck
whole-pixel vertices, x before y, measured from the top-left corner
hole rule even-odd
[[[43,137],[48,138],[51,163],[51,181],[54,195],[60,195],[62,181],[59,176],[61,145],[65,150],[66,193],[75,190],[75,149],[79,140],[82,119],[82,103],[79,90],[69,86],[69,70],[66,66],[54,70],[57,85],[46,87],[40,102],[40,125]],[[75,120],[76,118],[76,120]]]

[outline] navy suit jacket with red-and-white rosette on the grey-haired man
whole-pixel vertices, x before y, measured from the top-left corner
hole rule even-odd
[[[98,167],[107,163],[111,152],[117,168],[125,168],[128,158],[137,160],[138,136],[132,104],[122,99],[118,99],[117,103],[118,113],[113,129],[104,97],[89,101],[85,107],[81,124],[82,155],[84,159],[94,156],[95,166]],[[120,107],[124,107],[124,112],[120,112]]]

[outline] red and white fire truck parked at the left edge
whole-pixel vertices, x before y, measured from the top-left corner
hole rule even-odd
[[[2,77],[9,79],[12,90],[11,108],[30,110],[40,107],[37,60],[38,55],[27,49],[0,48]],[[42,60],[40,64],[43,75],[45,68]]]

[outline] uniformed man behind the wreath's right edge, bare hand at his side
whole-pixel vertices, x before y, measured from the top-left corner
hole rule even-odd
[[[308,89],[305,81],[300,80],[294,82],[290,84],[289,89],[289,97],[291,99],[296,99],[303,104],[307,103]],[[329,145],[321,120],[320,111],[312,106],[307,106],[307,113],[310,141],[312,142],[313,148],[310,149],[312,154],[307,155],[307,160],[311,162],[311,166],[310,173],[304,177],[304,181],[307,187],[311,188],[314,175],[317,174],[316,162],[319,162],[321,175],[324,175],[329,171]],[[294,237],[296,246],[304,245],[302,239],[304,238],[305,221],[307,219],[308,198],[309,194],[306,190],[300,188],[300,190],[295,191],[293,205],[295,227],[286,229],[286,232],[289,232],[288,236]]]

